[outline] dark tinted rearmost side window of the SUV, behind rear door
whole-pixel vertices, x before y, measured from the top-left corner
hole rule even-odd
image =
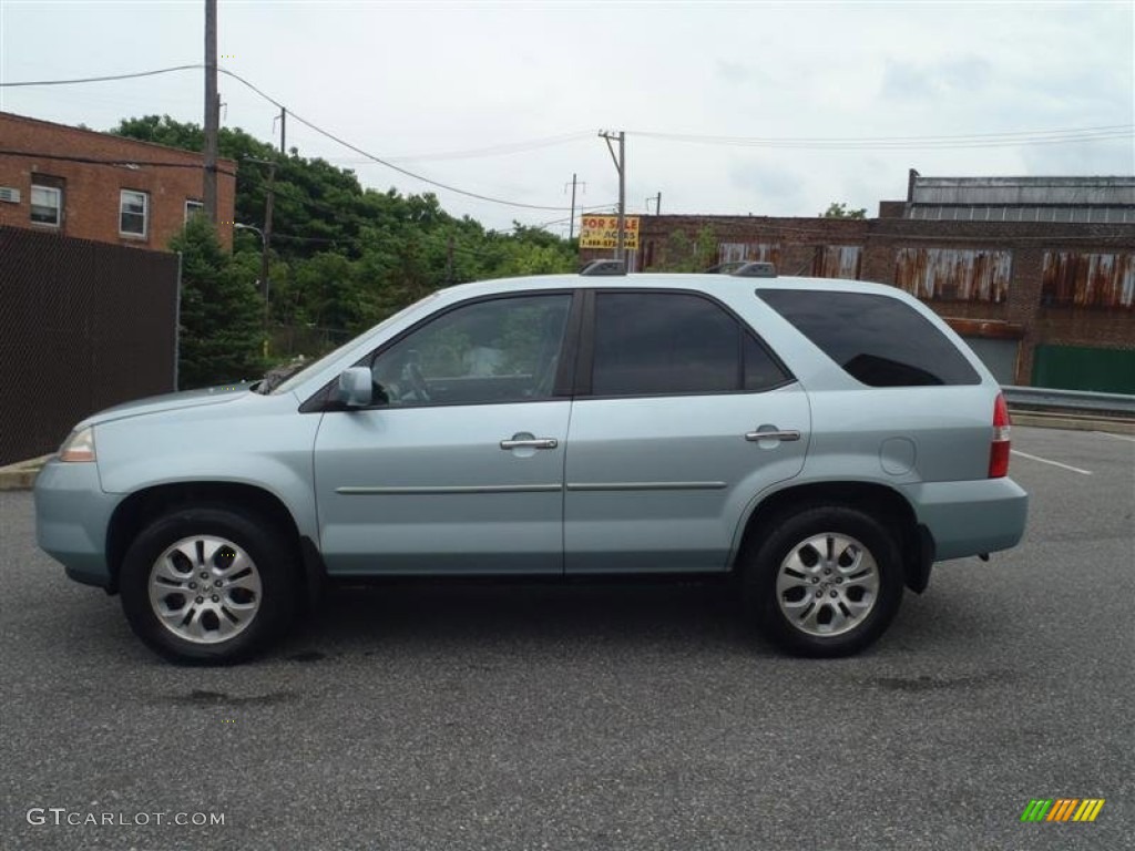
[[[898,298],[802,289],[757,295],[871,387],[981,384],[945,335]]]

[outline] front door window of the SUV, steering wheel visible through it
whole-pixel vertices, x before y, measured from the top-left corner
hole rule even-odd
[[[447,311],[379,352],[379,402],[479,405],[550,398],[569,294],[476,302]]]

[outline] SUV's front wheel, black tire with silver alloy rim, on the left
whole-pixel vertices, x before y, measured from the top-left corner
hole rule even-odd
[[[126,620],[150,649],[179,664],[226,665],[289,625],[297,576],[295,548],[280,530],[213,505],[175,509],[143,530],[119,588]]]

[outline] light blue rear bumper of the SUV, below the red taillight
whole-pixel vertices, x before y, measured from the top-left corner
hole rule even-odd
[[[934,561],[1009,549],[1025,534],[1028,494],[1012,479],[923,482],[901,490],[934,539]]]

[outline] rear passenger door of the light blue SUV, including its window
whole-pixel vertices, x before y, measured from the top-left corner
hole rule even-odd
[[[746,506],[804,465],[804,390],[703,294],[592,292],[583,329],[566,572],[725,570]]]

